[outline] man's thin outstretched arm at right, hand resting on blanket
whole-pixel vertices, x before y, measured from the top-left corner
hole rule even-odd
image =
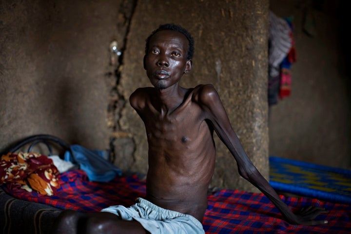
[[[240,140],[236,136],[228,115],[223,107],[218,93],[212,85],[203,87],[199,94],[199,103],[206,111],[206,118],[211,120],[216,134],[234,156],[239,175],[251,182],[266,195],[284,218],[291,224],[319,225],[328,223],[327,220],[314,220],[317,215],[326,213],[324,208],[309,207],[301,209],[296,214],[280,199],[269,182],[259,173],[250,158],[247,156]]]

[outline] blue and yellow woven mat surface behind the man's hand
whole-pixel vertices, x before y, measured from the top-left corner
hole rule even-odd
[[[279,192],[351,204],[351,170],[270,156],[270,184]]]

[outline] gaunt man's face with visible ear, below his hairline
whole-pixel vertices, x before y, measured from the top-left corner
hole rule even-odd
[[[172,30],[159,31],[151,37],[144,68],[157,89],[176,84],[184,73],[190,72],[192,61],[186,59],[188,45],[182,33]]]

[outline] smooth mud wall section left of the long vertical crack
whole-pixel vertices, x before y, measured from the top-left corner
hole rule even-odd
[[[0,1],[0,151],[34,134],[109,148],[118,131],[109,44],[123,47],[134,3]]]

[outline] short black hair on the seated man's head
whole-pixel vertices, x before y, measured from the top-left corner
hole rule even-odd
[[[194,56],[194,39],[193,39],[193,37],[185,28],[183,28],[180,25],[174,24],[174,23],[161,24],[158,26],[158,28],[154,32],[152,32],[150,34],[150,36],[146,39],[145,54],[148,53],[151,37],[154,36],[157,32],[162,31],[162,30],[172,30],[172,31],[182,33],[189,41],[187,59],[188,60],[193,59],[193,56]]]

